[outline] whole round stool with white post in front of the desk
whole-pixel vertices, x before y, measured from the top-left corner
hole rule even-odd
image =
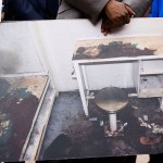
[[[98,91],[98,93],[95,97],[95,102],[99,106],[99,109],[105,111],[109,114],[110,131],[111,133],[118,131],[116,123],[116,113],[117,111],[121,111],[127,105],[128,103],[127,92],[117,87],[106,87]]]

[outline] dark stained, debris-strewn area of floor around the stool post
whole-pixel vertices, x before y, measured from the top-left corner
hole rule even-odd
[[[89,102],[90,117],[75,120],[45,152],[45,159],[64,160],[161,153],[163,151],[163,112],[158,98],[129,98],[128,105],[117,113],[124,127],[122,136],[105,137],[100,121],[108,121],[95,101]],[[140,121],[141,120],[141,121]]]

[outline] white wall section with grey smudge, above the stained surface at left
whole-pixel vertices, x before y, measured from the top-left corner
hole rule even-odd
[[[45,72],[30,33],[29,23],[0,24],[0,74]]]

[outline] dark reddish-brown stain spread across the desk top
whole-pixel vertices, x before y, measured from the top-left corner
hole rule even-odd
[[[154,52],[155,50],[149,48],[140,49],[137,43],[112,41],[108,45],[100,43],[93,47],[79,47],[73,60],[154,55]]]

